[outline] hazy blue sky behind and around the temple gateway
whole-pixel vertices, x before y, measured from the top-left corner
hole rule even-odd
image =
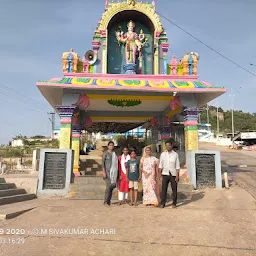
[[[150,0],[149,0],[150,1]],[[256,74],[255,0],[155,0],[157,11],[224,56]],[[146,1],[144,1],[146,2]],[[61,56],[91,49],[105,0],[0,1],[0,144],[12,137],[51,134],[51,106],[36,81],[62,76]],[[227,61],[162,18],[173,53],[198,52],[199,80],[228,92],[212,102],[256,112],[256,76]],[[254,63],[251,66],[249,63]],[[56,118],[58,124],[58,118]]]

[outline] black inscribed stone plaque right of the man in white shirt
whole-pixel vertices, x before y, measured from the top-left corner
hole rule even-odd
[[[215,187],[215,154],[195,154],[197,187]]]

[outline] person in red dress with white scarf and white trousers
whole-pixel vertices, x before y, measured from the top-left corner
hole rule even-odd
[[[128,201],[129,182],[126,178],[126,163],[130,160],[129,150],[127,147],[123,149],[123,154],[118,157],[119,186],[118,199],[119,204]]]

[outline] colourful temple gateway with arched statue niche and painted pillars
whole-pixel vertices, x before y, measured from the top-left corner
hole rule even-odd
[[[61,118],[60,147],[72,148],[79,172],[80,131],[127,132],[144,125],[198,148],[199,108],[226,90],[198,81],[199,55],[167,62],[168,38],[155,1],[105,1],[92,51],[63,53],[63,78],[37,86]],[[182,125],[182,131],[175,123]]]

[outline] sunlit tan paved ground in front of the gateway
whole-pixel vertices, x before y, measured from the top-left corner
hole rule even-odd
[[[255,161],[247,153],[242,154],[244,158],[240,152],[222,151],[223,161],[227,164],[231,161],[230,165],[247,158],[248,162]],[[253,179],[254,171],[249,171]],[[0,222],[0,233],[1,229],[14,233],[25,229],[24,235],[0,235],[0,255],[255,256],[255,191],[248,186],[245,190],[240,185],[245,171],[232,169],[230,172],[235,182],[229,190],[199,191],[192,200],[180,202],[177,209],[142,205],[106,208],[101,201],[40,199],[40,207]],[[42,234],[41,229],[47,229],[48,234]],[[115,234],[67,235],[58,233],[60,229],[70,232],[73,229],[87,229],[84,232],[114,229]],[[18,240],[8,238],[23,238],[25,244],[9,244]]]

